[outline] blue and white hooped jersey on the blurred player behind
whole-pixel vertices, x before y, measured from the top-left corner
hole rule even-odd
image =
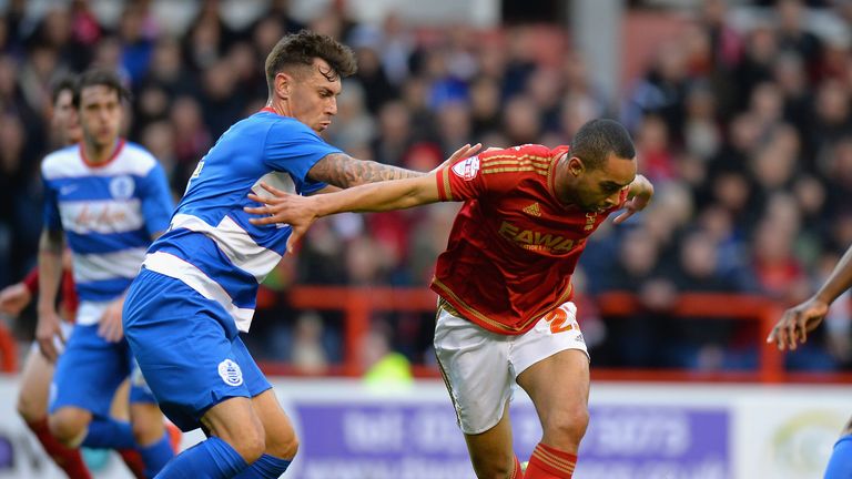
[[[80,145],[44,157],[44,227],[62,230],[81,302],[116,298],[139,273],[153,234],[169,225],[173,203],[165,173],[143,147],[119,140],[102,164]]]

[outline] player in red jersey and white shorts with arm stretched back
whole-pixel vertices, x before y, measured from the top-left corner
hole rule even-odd
[[[470,154],[477,147],[470,149]],[[628,132],[610,120],[584,125],[571,146],[521,145],[448,163],[422,177],[312,197],[250,197],[288,223],[292,248],[314,220],[463,201],[432,284],[439,296],[435,350],[479,478],[570,478],[588,425],[589,357],[571,303],[586,241],[618,208],[623,222],[653,187],[636,174]],[[511,448],[513,383],[544,428],[526,472]]]

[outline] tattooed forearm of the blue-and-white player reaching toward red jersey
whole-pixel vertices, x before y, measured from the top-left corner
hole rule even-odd
[[[334,153],[314,164],[307,176],[343,188],[364,183],[423,176],[425,173],[390,166],[374,161],[357,160],[344,153]]]

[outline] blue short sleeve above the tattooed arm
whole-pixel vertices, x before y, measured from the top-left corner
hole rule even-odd
[[[307,172],[325,156],[343,153],[321,139],[310,128],[295,120],[278,121],[272,125],[264,145],[264,163],[272,170],[286,172],[293,177],[296,191],[314,193],[326,186],[307,177]]]

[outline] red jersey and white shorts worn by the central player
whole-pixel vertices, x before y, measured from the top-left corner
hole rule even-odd
[[[529,144],[438,172],[440,200],[465,202],[432,289],[442,297],[435,350],[466,434],[499,421],[524,369],[560,350],[586,353],[571,274],[627,188],[604,212],[561,203],[554,173],[567,153]]]

